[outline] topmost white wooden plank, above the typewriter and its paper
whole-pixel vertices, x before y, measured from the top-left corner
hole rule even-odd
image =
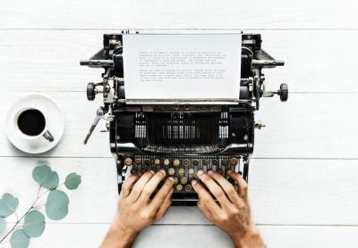
[[[61,0],[0,2],[2,29],[356,29],[356,2]]]

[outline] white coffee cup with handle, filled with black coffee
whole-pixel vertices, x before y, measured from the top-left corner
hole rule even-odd
[[[20,109],[13,118],[13,128],[25,140],[31,143],[46,139],[54,141],[54,136],[48,130],[46,116],[37,108],[27,107]]]

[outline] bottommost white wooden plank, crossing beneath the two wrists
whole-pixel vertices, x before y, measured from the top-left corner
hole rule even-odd
[[[30,240],[30,247],[98,247],[109,225],[47,224],[43,236]],[[267,247],[355,248],[358,227],[259,226]],[[69,235],[71,234],[71,235]],[[61,238],[59,238],[61,237]],[[10,245],[2,245],[9,247]],[[155,225],[144,229],[133,247],[212,248],[233,247],[230,238],[214,226]]]

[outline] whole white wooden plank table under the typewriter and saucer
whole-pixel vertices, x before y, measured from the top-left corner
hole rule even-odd
[[[30,247],[98,247],[115,214],[116,171],[107,134],[82,140],[99,101],[86,99],[101,70],[79,61],[121,29],[243,29],[284,68],[265,72],[268,85],[290,87],[287,103],[261,102],[250,169],[252,211],[268,247],[358,247],[358,18],[356,1],[0,1],[0,122],[29,92],[50,95],[65,112],[63,140],[29,156],[0,128],[0,193],[35,196],[30,173],[39,160],[64,175],[82,175],[69,215],[47,221]],[[102,123],[103,125],[103,123]],[[6,245],[4,245],[6,246]],[[231,247],[223,232],[192,207],[171,208],[145,229],[135,247]]]

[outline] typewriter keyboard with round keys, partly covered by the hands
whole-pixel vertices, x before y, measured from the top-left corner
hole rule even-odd
[[[228,179],[235,186],[234,180],[226,175],[226,170],[240,172],[240,157],[207,156],[207,157],[149,157],[135,156],[124,158],[124,165],[130,169],[131,174],[144,173],[148,170],[158,171],[165,169],[168,177],[175,178],[174,193],[194,193],[192,180],[198,181],[197,172],[214,170]]]

